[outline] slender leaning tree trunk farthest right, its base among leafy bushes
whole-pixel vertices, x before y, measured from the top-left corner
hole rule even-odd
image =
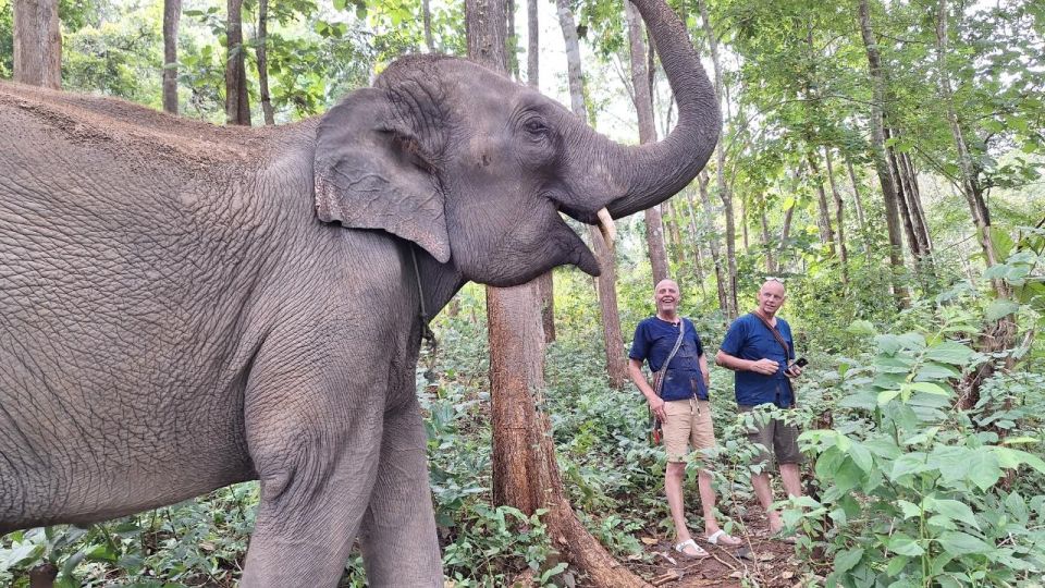
[[[1001,262],[998,253],[994,248],[994,242],[991,240],[991,212],[983,198],[983,186],[980,184],[976,166],[969,152],[962,133],[961,121],[958,119],[958,112],[955,109],[954,93],[950,89],[950,74],[947,68],[947,0],[939,0],[936,12],[936,63],[939,69],[937,78],[939,79],[939,93],[947,106],[947,122],[950,126],[951,138],[955,142],[955,149],[958,152],[958,163],[961,170],[961,192],[969,204],[969,211],[972,215],[972,221],[976,229],[976,236],[980,241],[980,247],[983,250],[983,257],[987,268]],[[994,286],[994,294],[997,299],[1008,299],[1012,296],[1012,290],[1001,278],[995,278],[991,281]],[[1016,345],[1016,317],[1008,315],[1001,317],[986,326],[978,338],[976,346],[983,353],[998,353],[1010,350]],[[1012,356],[1005,360],[1005,367],[1011,368],[1015,364]],[[962,378],[959,384],[961,390],[958,400],[958,407],[961,409],[972,408],[980,402],[980,387],[991,376],[994,375],[997,366],[994,360],[988,360],[976,370]]]

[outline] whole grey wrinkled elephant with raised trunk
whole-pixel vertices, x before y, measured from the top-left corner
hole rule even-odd
[[[257,130],[0,84],[0,532],[259,478],[245,585],[333,585],[358,535],[372,585],[441,586],[413,254],[430,313],[466,280],[594,273],[557,211],[697,174],[714,94],[637,4],[679,102],[641,148],[448,58]]]

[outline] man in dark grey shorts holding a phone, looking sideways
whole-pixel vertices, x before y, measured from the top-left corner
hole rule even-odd
[[[795,405],[790,379],[801,375],[802,368],[791,364],[795,359],[791,328],[786,320],[776,316],[786,298],[784,282],[776,278],[766,280],[759,289],[758,307],[753,313],[733,321],[715,355],[716,364],[736,372],[734,389],[740,411],[751,411],[760,404],[772,403],[780,408]],[[748,437],[751,442],[773,451],[780,468],[784,490],[790,497],[800,497],[799,465],[802,455],[798,451],[798,427],[770,419],[769,422],[757,424],[757,429]],[[769,470],[772,465],[769,462],[767,452],[758,455],[754,463],[766,464],[766,467],[758,474],[752,473],[751,486],[765,509],[770,532],[776,534],[784,523],[779,513],[771,507],[773,490]]]

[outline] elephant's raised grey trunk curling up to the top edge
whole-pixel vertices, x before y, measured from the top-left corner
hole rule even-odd
[[[612,184],[624,191],[606,205],[613,218],[656,206],[683,189],[708,162],[722,127],[714,88],[683,24],[662,0],[634,3],[675,94],[678,124],[659,143],[638,147],[610,143],[606,160]]]

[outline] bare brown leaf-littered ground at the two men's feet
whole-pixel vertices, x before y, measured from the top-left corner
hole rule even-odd
[[[742,519],[748,534],[734,532],[746,541],[742,547],[712,546],[696,537],[710,556],[692,560],[677,553],[674,542],[667,538],[641,537],[650,555],[647,560],[652,563],[636,560],[624,563],[653,586],[667,588],[739,588],[751,584],[763,588],[792,588],[822,580],[808,573],[808,565],[796,556],[794,544],[770,538],[765,515],[760,510],[749,509]]]

